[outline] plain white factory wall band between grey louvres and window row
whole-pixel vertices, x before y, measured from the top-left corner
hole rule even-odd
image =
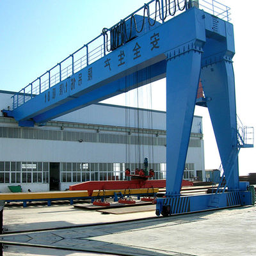
[[[125,163],[125,145],[78,141],[24,140],[0,138],[0,161]],[[135,162],[136,145],[130,145],[131,163]],[[150,146],[141,152],[150,156]],[[154,146],[154,162],[165,162],[165,147]],[[152,159],[149,159],[152,163]]]

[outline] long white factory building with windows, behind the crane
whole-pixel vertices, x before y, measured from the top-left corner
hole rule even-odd
[[[13,92],[0,91],[0,108]],[[166,177],[166,113],[93,104],[35,127],[0,117],[0,191],[65,190],[88,180],[125,180],[125,169],[148,168]],[[194,116],[184,179],[205,180],[202,117]]]

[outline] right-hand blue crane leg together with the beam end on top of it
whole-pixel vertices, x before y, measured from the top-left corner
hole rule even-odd
[[[236,94],[232,57],[235,54],[232,24],[215,28],[220,34],[206,31],[207,40],[202,58],[202,86],[211,116],[221,163],[229,190],[239,189],[237,159]]]

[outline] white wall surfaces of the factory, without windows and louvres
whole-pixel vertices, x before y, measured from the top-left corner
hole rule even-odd
[[[7,109],[8,106],[12,109],[12,92],[0,91],[0,109]],[[136,122],[137,116],[140,116],[140,125]],[[2,115],[3,116],[3,115]],[[129,117],[128,117],[129,116]],[[148,122],[148,118],[152,122]],[[125,122],[129,120],[129,124]],[[74,111],[64,116],[56,118],[59,122],[81,123],[81,124],[99,124],[111,125],[113,127],[140,127],[145,129],[166,129],[166,113],[163,111],[148,111],[137,110],[134,108],[125,109],[124,107],[113,106],[109,104],[94,104],[83,109]],[[2,127],[18,127],[16,123],[2,122]],[[71,125],[72,126],[72,125]],[[40,130],[60,130],[58,126],[36,126],[34,129]],[[33,128],[29,128],[33,129]],[[81,129],[65,127],[64,131],[79,131],[79,132],[97,132],[93,129]],[[23,131],[25,132],[25,131]],[[27,131],[29,132],[29,131]],[[202,136],[202,117],[195,116],[192,124],[193,133]],[[108,134],[123,134],[124,132],[100,131]],[[136,134],[132,134],[132,136]],[[159,135],[159,139],[163,138]],[[193,176],[196,177],[196,170],[202,170],[205,179],[204,171],[204,141],[202,138],[193,140],[200,141],[200,147],[189,147],[186,163],[192,163],[194,168]],[[129,145],[129,163],[137,163],[138,146]],[[157,163],[161,166],[161,172],[164,172],[166,166],[166,147],[154,145],[154,158],[152,157],[152,146],[141,145],[141,156],[148,157],[149,163]],[[62,141],[62,140],[32,140],[18,138],[0,138],[0,161],[9,162],[46,162],[46,163],[127,163],[127,145],[118,143],[97,143],[97,142],[79,142],[79,141]],[[143,153],[142,153],[143,152]],[[143,154],[143,156],[142,156]],[[142,160],[143,161],[143,160]],[[189,169],[191,171],[191,169]],[[160,172],[160,169],[159,169]],[[32,172],[33,174],[33,172]],[[61,173],[60,173],[61,175]],[[60,177],[61,179],[61,177]],[[163,178],[161,178],[163,179]],[[44,181],[45,182],[45,181]],[[27,191],[49,191],[49,182],[41,183],[22,183],[22,189]],[[70,185],[77,182],[60,182],[60,189],[65,190]],[[20,184],[20,183],[19,183]],[[12,183],[12,185],[15,185]],[[1,183],[0,191],[8,192],[8,184]]]

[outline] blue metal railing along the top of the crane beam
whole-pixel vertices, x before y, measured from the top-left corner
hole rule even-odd
[[[137,33],[140,33],[143,31],[145,22],[148,22],[149,26],[154,26],[156,22],[166,22],[180,12],[184,12],[193,6],[203,8],[206,12],[216,15],[217,17],[220,17],[220,19],[230,20],[230,8],[227,6],[218,3],[215,0],[200,0],[199,5],[196,5],[195,2],[198,3],[198,1],[191,0],[152,0],[148,2],[111,28],[104,28],[99,36],[88,42],[88,44],[84,44],[76,52],[70,54],[70,56],[60,61],[60,63],[57,63],[54,67],[47,70],[42,76],[36,78],[33,82],[22,88],[22,90],[15,93],[12,96],[12,109],[18,108],[28,100],[36,97],[36,95],[45,92],[45,90],[51,88],[55,84],[60,83],[67,77],[72,76],[84,67],[92,64],[94,61],[106,56],[106,54],[112,51],[111,31],[120,26],[120,24],[125,26],[125,29],[129,30],[132,29],[131,24],[134,22]],[[134,15],[141,15],[143,20],[137,22]],[[154,22],[152,22],[152,20],[154,20]],[[131,31],[128,31],[126,36],[129,35],[131,36]]]

